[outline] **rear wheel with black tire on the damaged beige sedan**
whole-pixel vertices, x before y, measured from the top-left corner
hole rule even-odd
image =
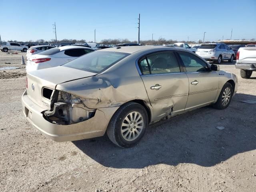
[[[133,120],[136,120],[136,122],[132,122]],[[138,103],[128,102],[121,106],[112,116],[108,124],[107,134],[114,144],[122,148],[128,148],[142,138],[147,128],[148,113],[146,109]]]

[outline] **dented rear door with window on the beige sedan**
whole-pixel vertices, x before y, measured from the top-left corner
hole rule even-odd
[[[188,100],[189,84],[186,74],[180,71],[174,52],[149,54],[139,60],[139,65],[154,110],[152,119],[182,113]]]

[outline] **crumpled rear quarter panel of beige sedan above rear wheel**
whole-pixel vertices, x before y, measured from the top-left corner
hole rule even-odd
[[[130,55],[96,76],[58,84],[57,90],[82,99],[88,108],[121,106],[131,100],[150,102],[144,84]]]

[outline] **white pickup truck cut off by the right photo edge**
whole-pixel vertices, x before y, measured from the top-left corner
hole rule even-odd
[[[256,47],[240,47],[236,53],[237,69],[240,69],[240,75],[248,79],[252,71],[256,71]]]

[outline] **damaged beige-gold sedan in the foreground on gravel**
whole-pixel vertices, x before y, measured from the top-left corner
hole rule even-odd
[[[193,52],[162,46],[102,49],[27,73],[28,121],[55,141],[103,136],[130,147],[148,124],[206,105],[224,109],[238,87]]]

